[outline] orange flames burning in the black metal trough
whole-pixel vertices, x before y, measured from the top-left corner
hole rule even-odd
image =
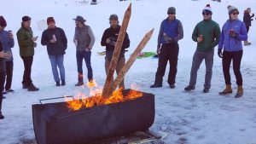
[[[87,87],[90,89],[90,97],[86,96],[84,93],[78,93],[75,95],[75,100],[71,100],[70,98],[66,97],[67,107],[73,111],[77,111],[84,107],[108,105],[121,101],[129,101],[143,96],[142,93],[136,91],[138,89],[136,85],[131,85],[131,90],[126,95],[123,95],[122,93],[124,89],[120,88],[115,90],[113,95],[109,96],[108,98],[104,98],[102,96],[102,89],[97,88],[96,86],[97,84],[95,80],[87,84]]]

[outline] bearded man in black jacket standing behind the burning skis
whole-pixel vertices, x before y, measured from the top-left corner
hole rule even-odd
[[[109,17],[109,24],[110,27],[108,29],[105,30],[105,32],[103,33],[102,36],[102,46],[106,46],[106,57],[105,57],[105,71],[106,74],[108,74],[108,68],[113,56],[113,50],[114,50],[114,45],[117,41],[117,38],[119,36],[119,31],[120,31],[120,27],[119,26],[119,18],[117,14],[111,14]],[[125,49],[130,47],[130,39],[129,36],[127,34],[127,32],[125,33],[125,39],[119,54],[119,60],[116,66],[116,72],[117,74],[119,74],[119,72],[121,71],[121,69],[123,68],[123,66],[125,66]],[[124,88],[125,89],[125,83],[124,83],[124,79],[121,81],[121,83],[119,84],[119,88]]]

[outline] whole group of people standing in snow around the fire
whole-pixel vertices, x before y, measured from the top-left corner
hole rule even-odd
[[[239,11],[234,6],[228,7],[229,19],[224,23],[224,26],[220,30],[218,23],[212,20],[212,8],[209,4],[202,10],[201,20],[192,33],[192,40],[197,43],[195,54],[193,56],[189,85],[184,88],[186,91],[195,89],[197,71],[201,66],[202,60],[205,60],[206,74],[204,93],[208,93],[211,88],[212,80],[212,66],[214,47],[218,45],[218,56],[222,58],[222,66],[224,72],[224,81],[226,87],[219,92],[219,95],[227,95],[232,93],[230,82],[230,64],[233,61],[233,69],[236,75],[237,92],[235,97],[239,98],[243,95],[242,77],[240,72],[241,57],[242,57],[242,44],[248,45],[247,32],[249,26],[251,26],[251,20],[254,14],[250,15],[250,9],[245,12],[244,21],[238,19]],[[168,84],[171,89],[175,88],[176,74],[177,74],[177,59],[179,53],[178,41],[183,38],[183,25],[180,20],[176,18],[176,9],[170,7],[167,10],[168,17],[160,24],[160,32],[157,42],[157,53],[159,54],[159,62],[157,72],[155,74],[154,84],[150,88],[162,87],[163,77],[166,72],[166,65],[169,61],[170,71],[168,74]],[[246,15],[248,14],[248,15]],[[249,19],[249,20],[248,20]],[[90,65],[91,49],[95,43],[95,36],[90,26],[85,25],[84,18],[77,16],[75,19],[75,32],[73,37],[73,43],[76,46],[76,59],[78,67],[78,83],[75,86],[84,84],[83,74],[83,60],[87,67],[87,78],[89,82],[93,81],[93,72]],[[108,68],[113,56],[114,45],[119,35],[119,18],[117,14],[111,14],[109,17],[110,27],[103,32],[102,46],[106,47],[105,56],[105,71],[108,73]],[[49,61],[52,67],[52,73],[56,86],[66,84],[65,68],[63,65],[65,50],[67,49],[67,37],[65,32],[55,26],[55,19],[49,17],[47,19],[48,28],[43,32],[41,38],[41,44],[47,46],[47,52],[49,55]],[[0,16],[0,119],[3,119],[1,112],[3,93],[2,92],[14,92],[11,89],[12,73],[13,73],[13,56],[11,48],[14,47],[14,37],[11,31],[5,31],[7,26],[3,16]],[[24,63],[24,73],[22,80],[22,88],[28,91],[38,91],[39,89],[32,84],[31,72],[32,61],[34,55],[34,48],[37,47],[36,41],[38,37],[33,36],[31,28],[31,17],[23,16],[21,27],[16,33],[19,47],[20,57]],[[127,33],[125,33],[124,43],[122,45],[121,52],[119,54],[119,60],[117,63],[116,72],[119,73],[121,68],[125,65],[125,49],[130,47],[130,39]],[[59,77],[59,72],[60,76]],[[6,79],[6,84],[5,84]],[[5,87],[4,87],[5,84]],[[119,84],[119,88],[125,88],[124,80]]]

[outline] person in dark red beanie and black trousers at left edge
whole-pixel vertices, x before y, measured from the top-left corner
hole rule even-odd
[[[15,90],[11,89],[12,79],[13,79],[13,70],[14,70],[14,57],[12,53],[12,49],[15,46],[14,35],[11,31],[5,31],[5,27],[7,26],[6,21],[3,16],[0,16],[0,39],[3,44],[4,52],[8,52],[11,56],[9,59],[5,59],[6,66],[6,84],[4,86],[3,94],[7,94],[9,92],[15,92]]]

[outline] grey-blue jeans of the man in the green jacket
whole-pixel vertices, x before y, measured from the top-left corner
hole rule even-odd
[[[189,85],[195,86],[196,78],[197,78],[197,71],[201,65],[202,60],[205,60],[206,64],[206,74],[205,74],[205,88],[210,89],[211,81],[212,81],[212,66],[213,66],[213,55],[214,51],[199,51],[196,50],[193,56],[193,62],[190,72],[190,81]]]

